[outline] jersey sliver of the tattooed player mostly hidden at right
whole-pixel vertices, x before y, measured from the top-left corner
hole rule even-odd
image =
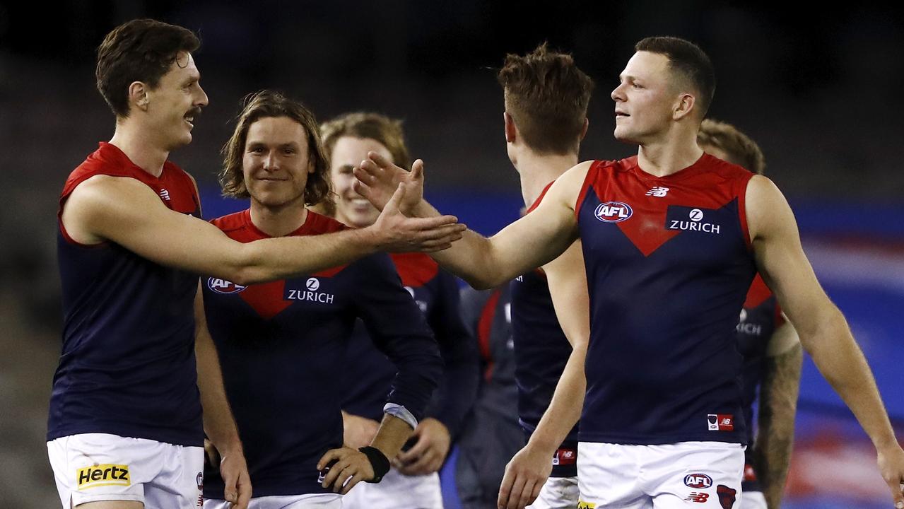
[[[744,301],[738,324],[738,348],[744,356],[743,401],[747,418],[747,467],[744,470],[744,491],[759,491],[756,469],[753,467],[753,403],[757,401],[763,381],[766,350],[776,329],[785,324],[781,306],[763,278],[757,274]]]

